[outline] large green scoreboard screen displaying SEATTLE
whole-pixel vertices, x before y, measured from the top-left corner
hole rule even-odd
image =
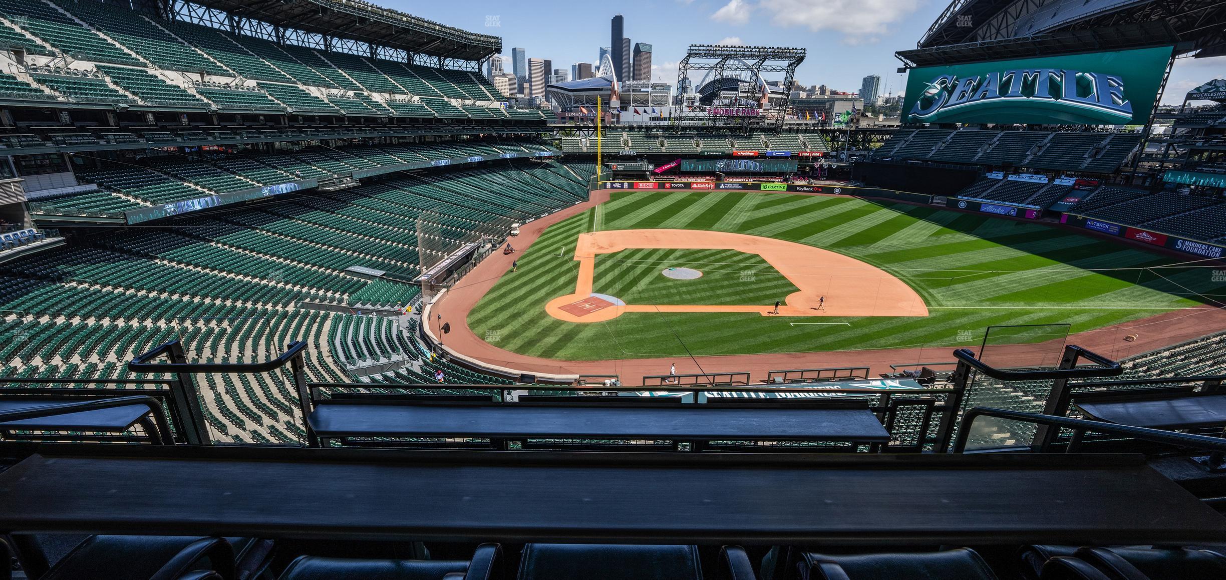
[[[911,123],[1144,125],[1171,47],[911,69]]]

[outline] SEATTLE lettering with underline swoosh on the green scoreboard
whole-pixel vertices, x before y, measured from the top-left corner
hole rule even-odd
[[[907,120],[975,123],[972,119],[1036,112],[1085,124],[1119,125],[1133,119],[1133,104],[1117,75],[1016,69],[962,77],[940,75],[927,83]]]

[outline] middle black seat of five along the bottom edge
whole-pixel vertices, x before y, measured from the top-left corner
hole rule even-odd
[[[700,580],[696,546],[530,543],[519,580]]]

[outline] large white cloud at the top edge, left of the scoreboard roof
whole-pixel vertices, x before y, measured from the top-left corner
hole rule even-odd
[[[759,0],[771,15],[771,23],[790,28],[803,26],[813,32],[843,34],[843,42],[877,42],[889,33],[890,25],[902,21],[920,7],[918,1],[900,0]]]

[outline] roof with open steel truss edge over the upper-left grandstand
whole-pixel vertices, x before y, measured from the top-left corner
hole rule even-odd
[[[476,70],[503,39],[359,0],[163,0],[168,17],[305,47]]]

